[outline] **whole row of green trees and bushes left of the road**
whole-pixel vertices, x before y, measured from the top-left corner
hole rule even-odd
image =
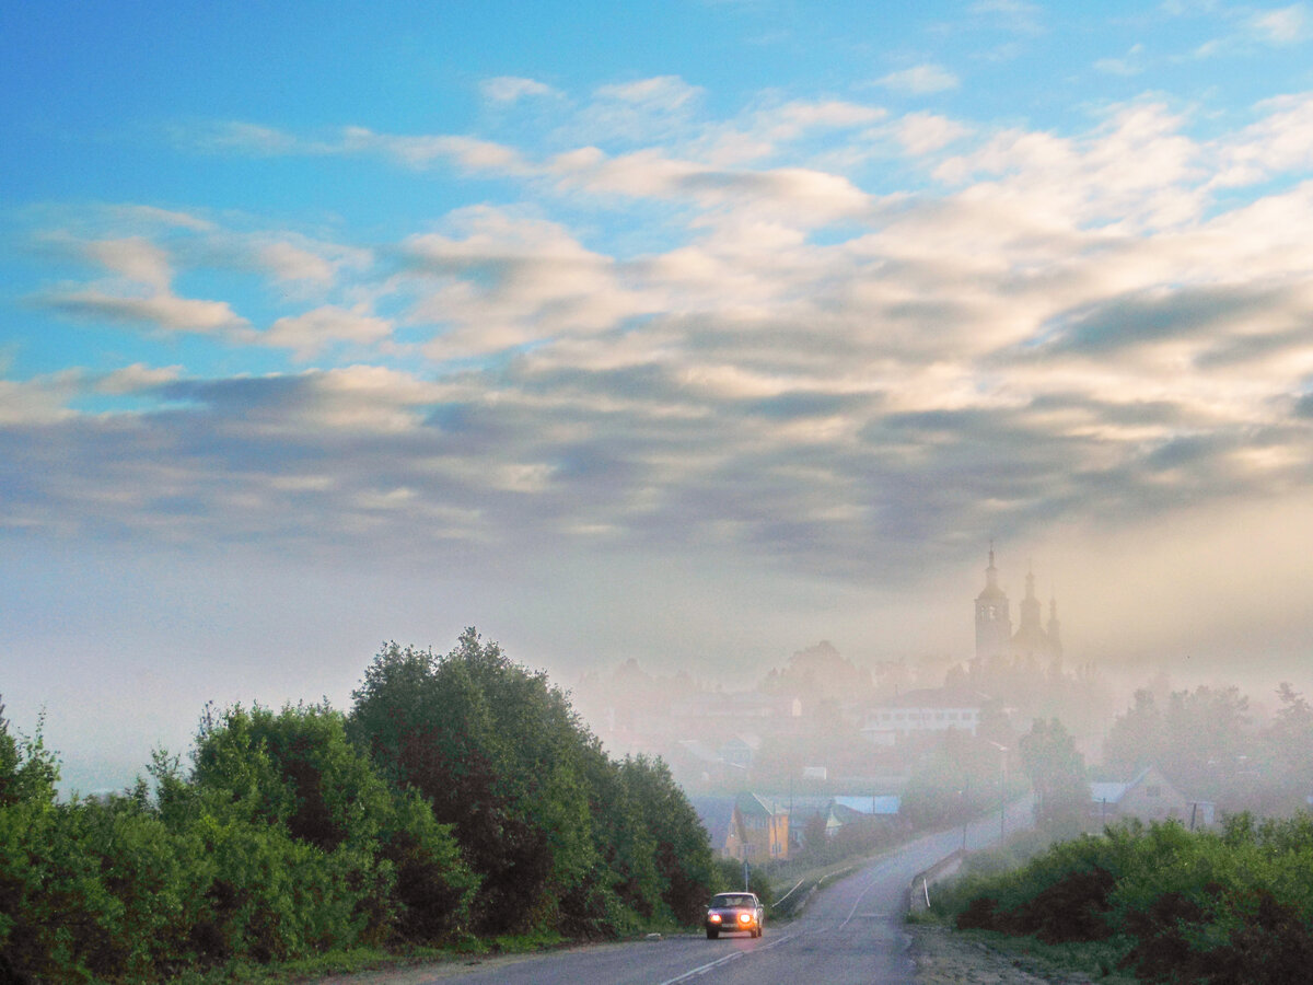
[[[0,707],[3,712],[3,707]],[[660,760],[613,760],[467,630],[386,646],[349,713],[207,708],[190,764],[60,801],[0,717],[0,982],[158,981],[328,950],[691,923],[717,881]]]

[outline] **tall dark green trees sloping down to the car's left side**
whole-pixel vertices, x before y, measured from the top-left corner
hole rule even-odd
[[[469,629],[441,658],[390,644],[353,697],[352,734],[453,826],[481,932],[696,919],[710,848],[688,801],[663,763],[609,762],[544,674]]]

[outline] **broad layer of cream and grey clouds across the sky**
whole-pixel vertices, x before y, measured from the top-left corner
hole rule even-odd
[[[932,64],[880,81],[958,84]],[[482,92],[569,102],[525,77]],[[1155,100],[1056,133],[775,96],[714,118],[702,97],[599,87],[551,150],[357,125],[180,138],[512,194],[393,242],[150,204],[34,229],[81,271],[37,310],[264,368],[9,381],[4,523],[293,550],[710,544],[869,579],[989,536],[1309,490],[1313,95],[1207,137]]]

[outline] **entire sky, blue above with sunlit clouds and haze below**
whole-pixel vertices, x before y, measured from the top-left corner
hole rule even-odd
[[[0,695],[66,779],[570,687],[1309,686],[1313,5],[0,3]],[[87,777],[87,779],[83,779]]]

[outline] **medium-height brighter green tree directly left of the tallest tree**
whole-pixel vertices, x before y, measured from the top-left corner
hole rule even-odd
[[[340,712],[207,708],[194,763],[189,813],[213,847],[205,925],[221,951],[295,953],[394,926],[423,939],[463,926],[474,879],[449,829],[387,785]],[[302,879],[267,873],[278,859],[298,860]],[[303,908],[306,894],[318,902]]]

